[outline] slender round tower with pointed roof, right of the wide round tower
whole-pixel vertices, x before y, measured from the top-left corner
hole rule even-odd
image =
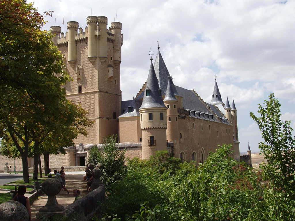
[[[178,102],[176,97],[175,97],[175,92],[174,88],[175,86],[173,85],[172,82],[173,78],[168,77],[168,85],[166,89],[166,95],[164,98],[164,103],[167,106],[167,140],[168,142],[173,142],[174,144],[174,151],[178,152],[178,121],[177,121],[177,108],[176,108],[176,103]]]

